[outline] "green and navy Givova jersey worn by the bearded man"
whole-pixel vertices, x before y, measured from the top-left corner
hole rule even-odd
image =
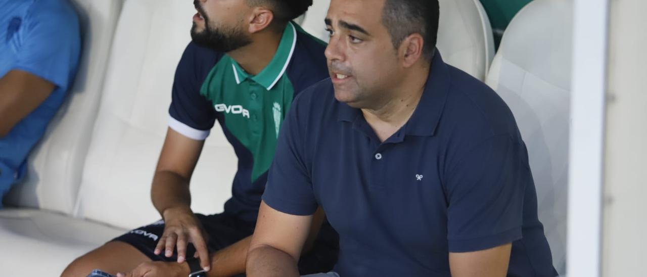
[[[278,132],[292,99],[328,78],[325,43],[289,23],[274,58],[259,74],[230,56],[190,43],[175,73],[169,126],[196,140],[219,122],[238,157],[225,212],[256,221]]]

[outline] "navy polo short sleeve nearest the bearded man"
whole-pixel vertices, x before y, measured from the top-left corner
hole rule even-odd
[[[303,124],[298,118],[302,93],[294,100],[281,127],[274,162],[269,170],[263,201],[274,210],[296,216],[314,214],[318,206],[308,166],[305,164]],[[300,99],[301,98],[301,99]]]

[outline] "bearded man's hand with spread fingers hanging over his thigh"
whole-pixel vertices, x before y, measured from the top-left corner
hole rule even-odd
[[[191,209],[168,208],[164,210],[163,216],[164,234],[155,247],[155,254],[159,255],[165,249],[164,256],[173,256],[173,249],[177,246],[177,262],[183,263],[186,261],[186,245],[193,243],[200,258],[200,266],[204,271],[209,271],[211,261],[204,239],[208,236]]]

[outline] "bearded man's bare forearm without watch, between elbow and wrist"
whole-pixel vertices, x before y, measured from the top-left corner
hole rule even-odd
[[[162,217],[164,217],[164,211],[169,208],[190,209],[189,180],[174,172],[155,172],[151,187],[151,199]]]

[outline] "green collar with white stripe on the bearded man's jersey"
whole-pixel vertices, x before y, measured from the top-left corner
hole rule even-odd
[[[283,36],[279,42],[278,49],[276,49],[274,58],[272,58],[265,69],[256,76],[251,76],[245,72],[240,65],[232,59],[232,67],[234,70],[234,76],[236,76],[236,83],[240,84],[249,78],[269,91],[277,82],[279,82],[281,76],[285,73],[290,60],[292,59],[292,54],[294,54],[294,47],[296,47],[296,28],[294,28],[292,22],[288,22],[285,30],[283,30]]]

